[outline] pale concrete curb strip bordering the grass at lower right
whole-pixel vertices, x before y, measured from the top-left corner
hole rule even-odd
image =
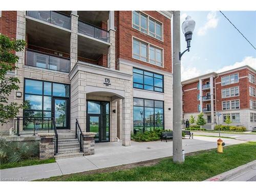
[[[255,168],[256,168],[256,160],[246,163],[244,165],[241,165],[237,168],[228,170],[227,172],[211,177],[204,181],[224,181],[224,180],[226,181],[233,177],[239,176],[241,173],[247,172],[248,170],[255,169]]]

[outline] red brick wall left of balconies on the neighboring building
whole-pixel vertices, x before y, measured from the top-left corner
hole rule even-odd
[[[199,90],[197,90],[197,82],[185,84],[183,88],[183,111],[184,113],[197,113],[198,112],[198,104],[200,101],[197,100],[197,94],[199,94]],[[196,88],[196,89],[193,89]],[[189,90],[193,89],[193,90]],[[185,91],[189,90],[189,91]]]

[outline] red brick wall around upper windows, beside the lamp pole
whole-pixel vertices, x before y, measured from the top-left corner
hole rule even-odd
[[[132,28],[132,11],[115,11],[115,26],[116,31],[116,59],[123,58],[133,62],[140,63],[145,66],[150,66],[156,69],[172,72],[172,47],[171,47],[171,32],[170,19],[166,18],[157,11],[143,11],[163,23],[163,40],[158,40],[150,35],[142,33]],[[164,68],[152,65],[133,58],[132,55],[132,38],[137,37],[141,40],[151,43],[152,45],[162,48]]]

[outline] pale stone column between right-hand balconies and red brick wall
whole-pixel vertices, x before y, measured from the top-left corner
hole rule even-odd
[[[114,11],[109,14],[109,53],[108,53],[108,68],[116,69],[116,55],[115,55],[115,26],[114,26]]]

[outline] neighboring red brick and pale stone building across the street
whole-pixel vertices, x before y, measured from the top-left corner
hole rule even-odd
[[[256,126],[256,70],[244,66],[222,73],[208,73],[182,81],[183,120],[204,113],[206,129],[224,124],[227,115],[231,125]],[[219,120],[217,112],[221,113]]]

